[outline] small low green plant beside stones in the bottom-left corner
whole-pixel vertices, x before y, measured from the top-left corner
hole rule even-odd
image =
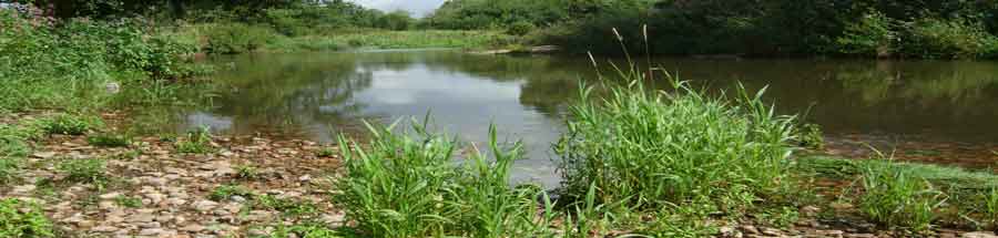
[[[0,199],[0,237],[55,237],[54,225],[33,204]]]

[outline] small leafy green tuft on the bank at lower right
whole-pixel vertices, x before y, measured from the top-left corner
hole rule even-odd
[[[858,207],[867,218],[915,231],[930,228],[945,194],[909,172],[893,168],[889,162],[866,163],[860,169]]]

